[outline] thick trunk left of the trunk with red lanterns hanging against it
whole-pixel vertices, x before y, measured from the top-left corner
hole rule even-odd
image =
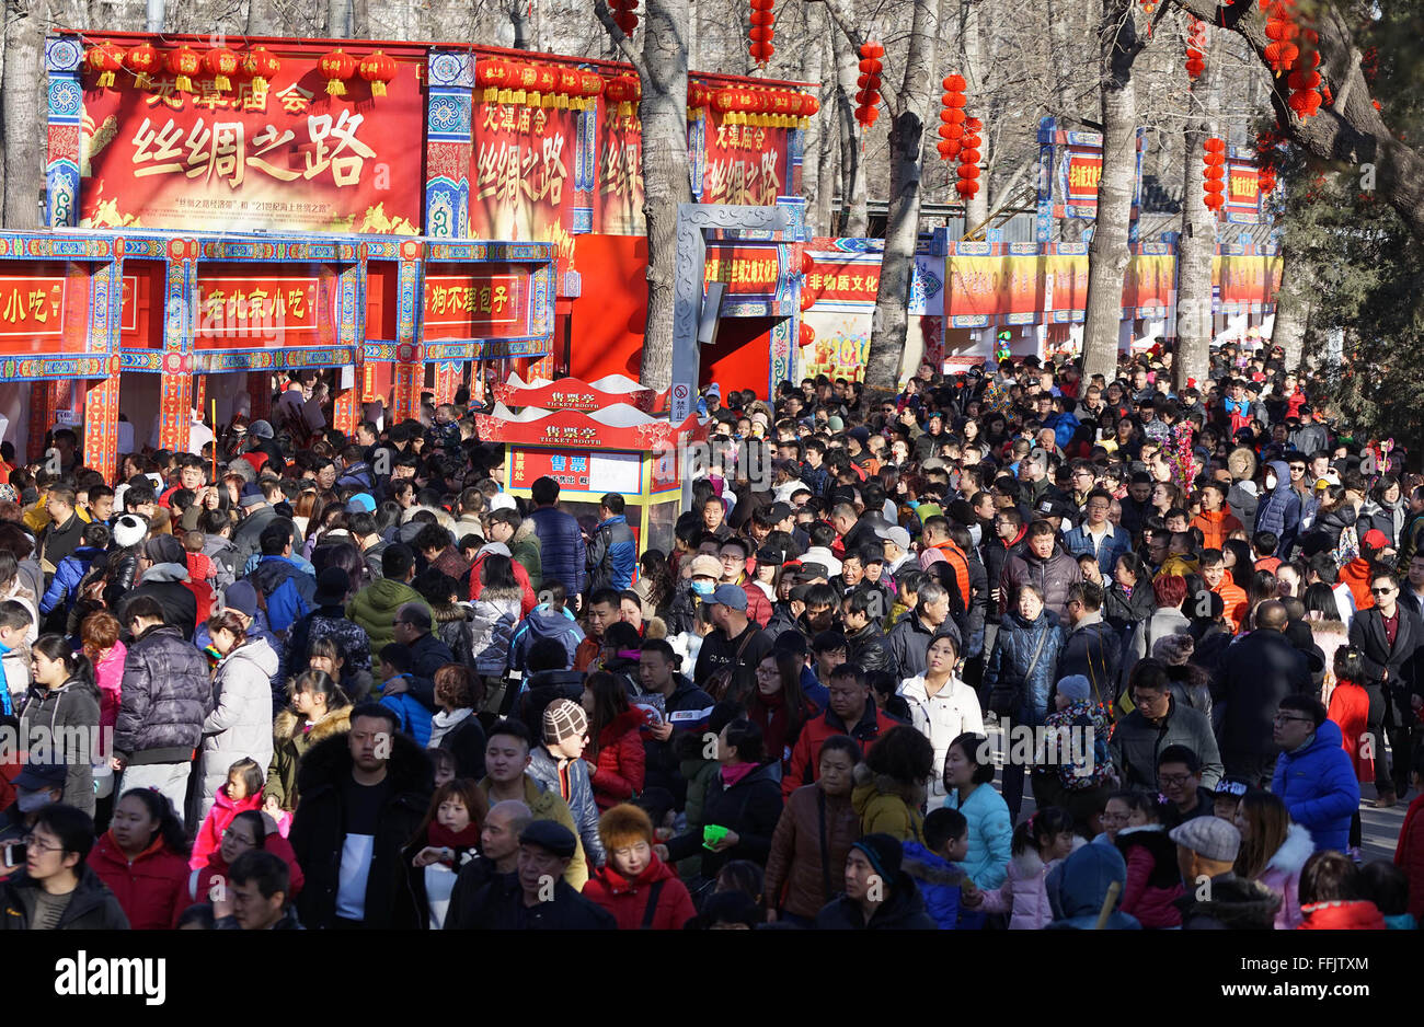
[[[1084,377],[1109,381],[1118,367],[1122,279],[1128,270],[1128,222],[1136,174],[1138,102],[1132,61],[1142,50],[1131,0],[1102,4],[1102,178],[1098,219],[1088,248],[1088,314],[1082,333]]]

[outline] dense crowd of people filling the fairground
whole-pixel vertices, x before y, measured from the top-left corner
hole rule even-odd
[[[6,442],[0,925],[1415,927],[1424,477],[1279,351],[1118,371],[712,385],[666,549],[464,394]]]

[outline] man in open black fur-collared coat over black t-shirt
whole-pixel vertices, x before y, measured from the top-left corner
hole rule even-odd
[[[420,828],[434,774],[379,703],[352,710],[352,728],[302,757],[302,802],[290,842],[306,885],[298,913],[308,927],[417,929],[397,923],[400,849]]]

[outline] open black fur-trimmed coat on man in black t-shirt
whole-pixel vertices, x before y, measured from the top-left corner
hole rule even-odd
[[[380,811],[376,839],[366,878],[366,926],[417,930],[416,922],[396,913],[396,890],[403,888],[402,848],[414,838],[434,791],[430,758],[407,735],[390,735],[390,762],[386,781],[390,791]],[[302,795],[292,821],[290,842],[296,861],[306,875],[296,909],[302,923],[313,930],[336,923],[336,892],[342,875],[342,846],[346,838],[342,795],[350,781],[352,755],[346,735],[318,743],[302,757],[296,787]],[[409,910],[407,910],[409,915]]]

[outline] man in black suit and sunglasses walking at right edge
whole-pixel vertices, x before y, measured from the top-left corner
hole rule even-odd
[[[1378,568],[1370,575],[1374,606],[1360,610],[1350,622],[1350,644],[1364,657],[1368,674],[1364,690],[1370,696],[1367,731],[1374,740],[1374,787],[1377,807],[1393,807],[1397,795],[1408,791],[1410,735],[1417,720],[1411,698],[1421,694],[1418,657],[1424,647],[1424,620],[1400,605],[1400,585],[1394,575]],[[1390,738],[1394,772],[1384,764],[1384,737]]]

